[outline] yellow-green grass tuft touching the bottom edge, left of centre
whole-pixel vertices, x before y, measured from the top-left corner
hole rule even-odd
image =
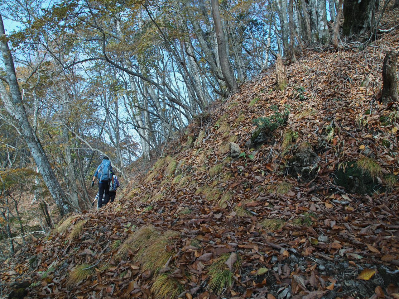
[[[184,285],[169,275],[170,273],[162,273],[154,278],[154,283],[151,287],[154,298],[176,299],[184,292]]]

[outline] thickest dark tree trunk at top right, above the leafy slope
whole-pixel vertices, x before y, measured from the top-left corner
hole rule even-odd
[[[342,33],[363,34],[374,26],[374,11],[379,0],[345,0]]]

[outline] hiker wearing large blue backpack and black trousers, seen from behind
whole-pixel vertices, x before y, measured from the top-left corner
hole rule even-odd
[[[112,166],[109,158],[107,156],[103,157],[103,161],[97,167],[96,172],[93,175],[93,179],[91,180],[91,187],[94,187],[94,181],[99,175],[99,197],[97,200],[97,209],[100,209],[103,206],[103,196],[105,195],[104,201],[108,202],[109,197],[109,189],[110,189],[110,181],[111,181],[111,189],[114,188],[114,177],[112,173]]]

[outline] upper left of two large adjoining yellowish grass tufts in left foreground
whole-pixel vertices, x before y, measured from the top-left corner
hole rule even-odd
[[[142,226],[128,237],[120,246],[118,254],[125,256],[129,250],[136,251],[151,244],[151,240],[158,237],[159,232],[153,226]]]

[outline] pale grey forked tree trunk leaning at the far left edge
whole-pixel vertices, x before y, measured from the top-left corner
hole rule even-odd
[[[71,211],[71,207],[67,201],[67,197],[61,188],[61,185],[55,177],[53,169],[51,169],[50,162],[41,146],[40,141],[32,130],[29,123],[28,116],[22,103],[22,96],[14,68],[14,61],[11,56],[10,48],[8,47],[6,33],[4,31],[3,18],[0,14],[0,47],[2,53],[2,60],[6,69],[6,80],[10,87],[11,98],[4,87],[0,84],[1,97],[4,102],[4,107],[7,112],[16,120],[21,127],[21,132],[24,135],[25,142],[32,153],[38,169],[43,176],[43,181],[47,185],[51,196],[60,209],[61,215],[65,215]]]

